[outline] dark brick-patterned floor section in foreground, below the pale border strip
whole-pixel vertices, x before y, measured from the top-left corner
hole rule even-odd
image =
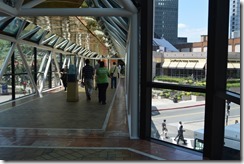
[[[13,154],[13,155],[9,155]],[[156,160],[156,157],[144,155],[133,149],[123,148],[1,148],[0,156],[6,161],[37,160],[37,161],[67,161],[67,160]],[[158,158],[159,159],[159,158]]]

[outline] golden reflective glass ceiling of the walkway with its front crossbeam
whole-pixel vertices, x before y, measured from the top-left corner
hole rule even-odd
[[[2,0],[0,15],[20,17],[82,47],[124,58],[132,0]]]

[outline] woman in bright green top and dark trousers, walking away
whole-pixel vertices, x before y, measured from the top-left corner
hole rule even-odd
[[[108,88],[108,78],[109,71],[106,67],[104,67],[104,62],[100,62],[100,67],[96,71],[97,77],[97,88],[98,88],[98,101],[101,104],[106,104],[106,92]]]

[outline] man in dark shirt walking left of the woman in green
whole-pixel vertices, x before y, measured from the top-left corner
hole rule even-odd
[[[91,100],[91,94],[93,91],[93,76],[94,68],[90,65],[90,60],[85,60],[86,65],[82,68],[82,83],[85,85],[87,100]]]

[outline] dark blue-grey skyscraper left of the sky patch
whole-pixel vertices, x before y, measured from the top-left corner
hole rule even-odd
[[[154,37],[178,41],[178,0],[154,0]]]

